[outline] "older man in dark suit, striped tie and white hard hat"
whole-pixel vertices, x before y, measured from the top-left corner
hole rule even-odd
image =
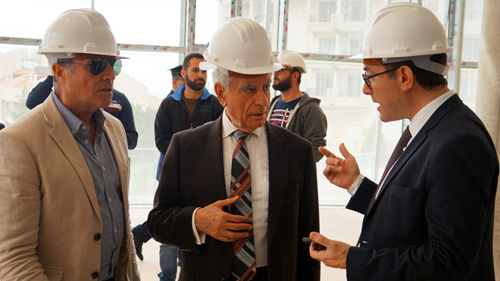
[[[182,249],[179,280],[318,281],[320,264],[301,241],[319,229],[314,152],[266,122],[271,73],[281,69],[266,31],[231,19],[204,56],[225,110],[172,138],[149,232]]]

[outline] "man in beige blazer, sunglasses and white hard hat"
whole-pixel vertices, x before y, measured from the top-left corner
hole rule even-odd
[[[0,280],[139,280],[125,131],[101,109],[121,68],[114,36],[70,10],[39,53],[54,92],[0,132]]]

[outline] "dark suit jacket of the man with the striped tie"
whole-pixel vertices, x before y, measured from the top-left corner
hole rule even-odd
[[[269,280],[319,280],[319,262],[311,259],[309,246],[301,241],[319,229],[312,146],[284,128],[270,123],[265,126],[269,146]],[[232,244],[207,235],[205,244],[196,245],[191,226],[196,207],[226,198],[222,117],[175,134],[163,163],[148,230],[157,241],[183,250],[179,280],[229,280]]]

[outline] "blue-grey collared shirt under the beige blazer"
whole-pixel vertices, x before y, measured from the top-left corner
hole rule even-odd
[[[55,93],[59,112],[75,137],[92,175],[102,219],[101,268],[99,281],[114,276],[114,268],[125,233],[123,195],[116,160],[104,131],[105,117],[101,110],[94,112],[96,123],[94,145],[89,138],[89,126],[76,117]],[[85,226],[83,226],[85,227]],[[82,245],[85,247],[85,245]],[[78,253],[75,253],[78,255]]]

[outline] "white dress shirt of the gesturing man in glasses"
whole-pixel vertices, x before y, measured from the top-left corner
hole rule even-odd
[[[411,133],[411,139],[408,142],[408,145],[410,145],[410,143],[413,140],[413,138],[418,134],[418,132],[420,132],[420,130],[422,129],[422,127],[424,127],[425,123],[427,123],[427,121],[429,121],[429,119],[431,118],[432,114],[434,114],[434,112],[436,112],[436,110],[443,103],[445,103],[449,98],[451,98],[454,94],[455,94],[455,91],[454,90],[450,90],[450,91],[448,91],[448,92],[440,95],[439,97],[435,98],[433,101],[431,101],[430,103],[428,103],[427,105],[425,105],[422,109],[420,109],[417,112],[417,114],[415,114],[415,116],[411,120],[410,125],[408,125],[408,127],[410,127],[409,130],[410,130],[410,133]],[[394,164],[396,164],[396,162],[394,162]],[[391,167],[391,169],[392,169],[392,167]],[[389,174],[390,172],[391,171],[389,170],[389,172],[387,174]],[[363,181],[364,178],[365,178],[365,176],[362,175],[362,174],[360,174],[356,178],[356,180],[354,181],[354,183],[351,185],[351,187],[347,190],[347,192],[349,192],[349,194],[351,194],[352,196],[354,196],[354,194],[356,194],[356,191],[358,191],[358,188],[361,185],[361,182]],[[380,185],[382,185],[382,184],[383,184],[383,182],[380,183]],[[380,189],[379,189],[379,191],[380,191]],[[377,196],[378,196],[378,193],[377,193]]]

